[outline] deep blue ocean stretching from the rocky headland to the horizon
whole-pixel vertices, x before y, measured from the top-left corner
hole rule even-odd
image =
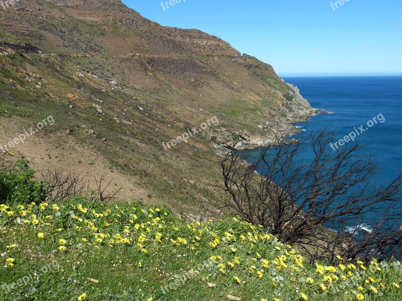
[[[347,143],[358,143],[364,156],[373,156],[378,168],[372,184],[387,184],[402,173],[402,76],[283,79],[297,86],[313,108],[334,112],[294,124],[303,132],[288,138],[304,138],[328,125],[335,129],[337,139],[342,139],[363,125],[364,132],[358,130],[355,141]],[[304,152],[306,160],[313,158],[311,148]],[[257,150],[244,150],[241,156],[252,163]]]

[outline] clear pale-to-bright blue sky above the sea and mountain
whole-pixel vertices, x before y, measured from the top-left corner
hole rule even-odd
[[[280,76],[402,75],[400,0],[349,0],[335,10],[326,0],[123,3],[161,25],[216,35]]]

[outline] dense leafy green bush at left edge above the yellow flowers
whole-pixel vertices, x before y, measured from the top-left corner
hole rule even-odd
[[[33,180],[35,172],[25,161],[0,171],[0,204],[44,202],[48,185]]]

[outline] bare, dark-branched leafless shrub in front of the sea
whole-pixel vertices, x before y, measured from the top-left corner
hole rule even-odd
[[[312,261],[400,255],[402,174],[377,186],[371,157],[357,144],[334,152],[334,140],[328,128],[293,143],[277,138],[249,164],[234,138],[222,161],[226,207],[303,248]],[[312,158],[303,157],[306,147]]]

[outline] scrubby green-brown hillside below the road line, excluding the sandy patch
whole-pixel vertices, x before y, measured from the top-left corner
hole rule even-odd
[[[24,43],[23,39],[6,32],[2,39]],[[152,73],[146,69],[136,74],[135,70],[141,70],[139,66],[151,59],[142,56],[129,59],[132,64],[125,66],[134,66],[133,73],[128,72],[125,76],[119,72],[114,78],[111,70],[125,59],[45,54],[2,56],[0,116],[10,118],[10,122],[14,116],[21,117],[29,124],[52,114],[56,124],[43,132],[57,137],[70,129],[79,143],[94,147],[115,169],[125,172],[138,187],[148,191],[152,196],[149,201],[165,202],[178,213],[211,216],[215,205],[223,199],[221,192],[211,190],[210,186],[222,181],[214,142],[233,129],[266,136],[266,129],[257,125],[270,120],[268,112],[276,114],[281,102],[279,98],[267,100],[263,94],[276,95],[272,91],[284,89],[283,83],[264,70],[247,69],[253,74],[265,74],[265,81],[261,79],[261,82],[266,87],[261,88],[260,80],[244,74],[243,65],[257,61],[251,57],[239,58],[236,62],[225,56],[172,58],[173,63],[184,68],[183,72],[188,69],[188,75],[171,74],[164,69],[166,62],[157,59],[152,62],[159,71]],[[201,63],[206,64],[206,68],[215,70],[212,75],[207,71],[202,76],[192,73],[196,68],[191,66],[199,64],[200,59],[208,62]],[[168,65],[170,63],[169,60]],[[105,72],[100,72],[99,66],[104,66]],[[97,74],[99,79],[86,71]],[[78,77],[78,72],[85,77]],[[195,78],[195,81],[189,84],[189,78]],[[109,79],[122,83],[127,79],[127,84],[116,87]],[[156,88],[161,82],[167,89]],[[42,86],[38,87],[38,83]],[[172,89],[173,85],[177,87]],[[102,106],[105,116],[96,114],[93,104]],[[69,105],[74,109],[69,109]],[[186,128],[199,126],[212,116],[218,117],[219,126],[208,128],[207,132],[168,152],[162,147],[162,142],[177,137]],[[123,124],[123,120],[132,124]],[[88,138],[82,126],[95,130],[97,139]],[[102,138],[107,142],[100,141]],[[53,147],[60,148],[60,145]],[[18,153],[18,147],[15,153],[24,156]],[[194,181],[195,185],[188,185],[186,179]]]

